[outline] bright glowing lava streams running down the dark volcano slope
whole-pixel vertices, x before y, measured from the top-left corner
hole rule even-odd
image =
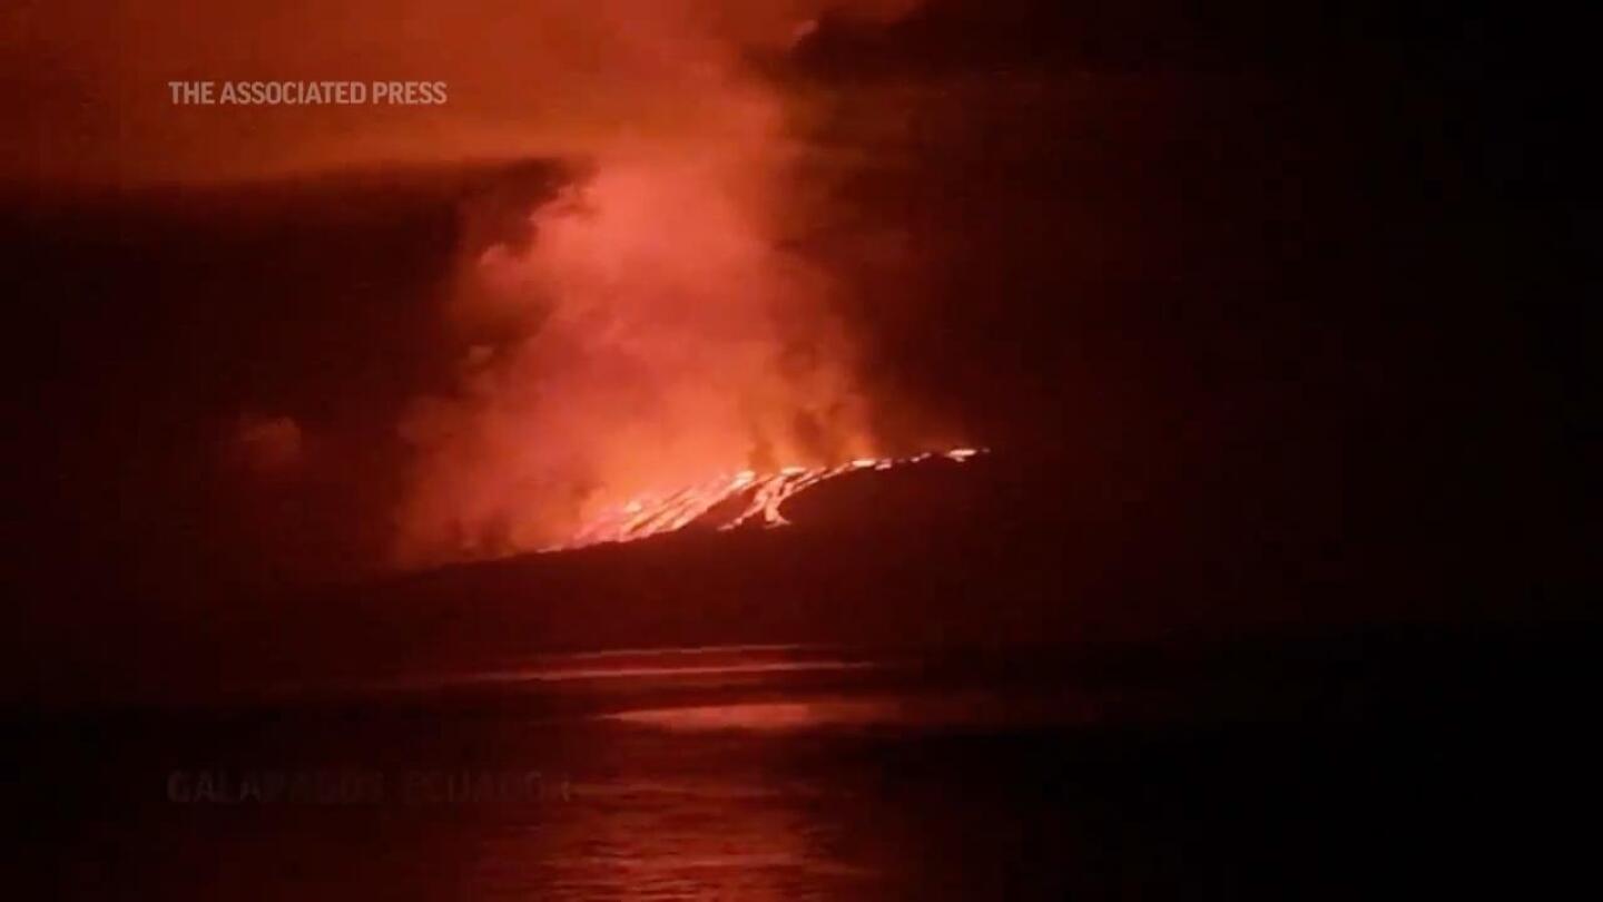
[[[601,512],[566,542],[542,551],[632,542],[672,533],[704,518],[717,523],[720,531],[757,522],[763,526],[784,526],[790,522],[781,510],[785,501],[835,477],[858,470],[888,470],[931,457],[963,462],[983,453],[983,448],[955,448],[941,454],[923,453],[912,457],[861,457],[835,467],[784,467],[774,473],[741,470],[668,494],[636,496]],[[718,509],[729,514],[713,517],[712,514]]]

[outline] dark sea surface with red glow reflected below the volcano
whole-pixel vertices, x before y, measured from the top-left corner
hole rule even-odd
[[[18,897],[1529,888],[1566,855],[1544,841],[1532,867],[1518,843],[1585,804],[1590,758],[1521,698],[1576,661],[1507,645],[612,652],[30,716]]]

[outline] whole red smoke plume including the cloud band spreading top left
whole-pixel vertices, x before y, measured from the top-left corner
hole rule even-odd
[[[0,181],[550,164],[551,191],[510,212],[505,194],[466,204],[441,311],[460,366],[398,424],[412,465],[391,552],[548,547],[641,493],[874,451],[838,286],[793,250],[818,213],[808,103],[763,69],[824,18],[914,3],[22,3],[0,37],[21,98],[0,111]],[[188,106],[168,88],[255,79],[430,82],[449,101]]]

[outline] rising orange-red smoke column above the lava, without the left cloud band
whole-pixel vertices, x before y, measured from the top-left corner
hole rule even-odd
[[[547,547],[641,494],[874,449],[838,286],[790,247],[802,101],[749,66],[814,19],[712,10],[612,35],[684,88],[644,128],[593,141],[540,202],[470,207],[450,319],[483,339],[402,424],[399,563]]]

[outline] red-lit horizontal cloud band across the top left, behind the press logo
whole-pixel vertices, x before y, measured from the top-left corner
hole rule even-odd
[[[22,0],[0,13],[6,180],[228,181],[375,164],[737,146],[742,72],[816,16],[912,0]],[[446,82],[442,106],[173,106],[170,80]],[[761,125],[757,125],[761,130]],[[761,140],[761,138],[758,138]]]

